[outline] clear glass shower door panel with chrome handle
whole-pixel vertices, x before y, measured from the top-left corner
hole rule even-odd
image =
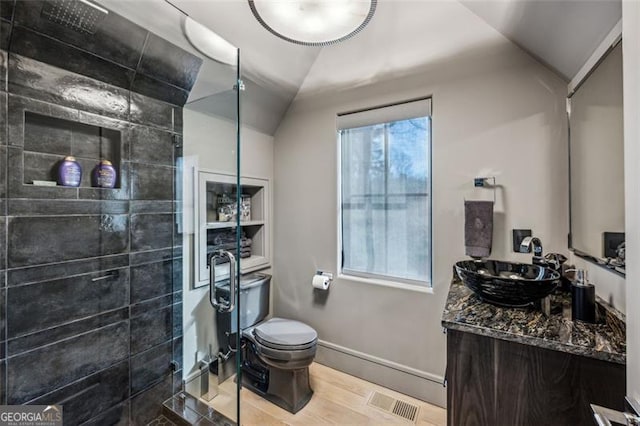
[[[206,96],[184,108],[178,169],[183,200],[183,379],[185,392],[239,422],[238,285],[242,235],[239,52],[208,63]],[[202,71],[201,71],[202,72]]]

